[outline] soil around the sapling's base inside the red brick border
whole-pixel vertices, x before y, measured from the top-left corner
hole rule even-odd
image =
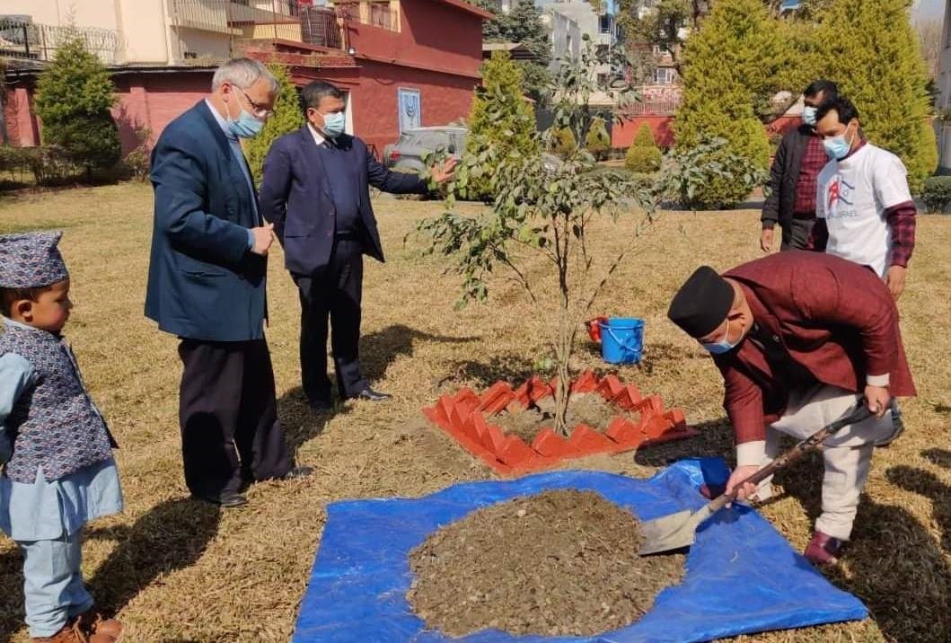
[[[596,393],[575,394],[568,400],[569,432],[578,424],[587,424],[592,429],[604,431],[611,420],[619,415],[628,414]],[[540,399],[536,406],[523,411],[503,411],[489,421],[504,433],[518,436],[531,444],[541,429],[554,426],[554,399]]]

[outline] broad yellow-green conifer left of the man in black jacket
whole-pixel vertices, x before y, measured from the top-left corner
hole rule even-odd
[[[723,138],[724,154],[765,169],[769,141],[762,120],[773,111],[771,98],[788,83],[791,59],[779,23],[761,0],[715,3],[684,49],[676,146],[684,149]],[[696,201],[733,205],[747,197],[747,190],[743,176],[720,175],[701,186]]]

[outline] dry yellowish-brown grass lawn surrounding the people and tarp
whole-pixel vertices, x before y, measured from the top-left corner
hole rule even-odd
[[[378,200],[390,263],[368,262],[363,358],[367,375],[396,399],[351,403],[316,415],[303,404],[297,363],[298,302],[271,263],[268,339],[281,419],[306,480],[253,487],[251,504],[218,512],[188,499],[177,421],[180,364],[175,341],[143,317],[151,234],[147,185],[76,189],[0,200],[0,231],[58,226],[73,275],[68,325],[94,397],[122,445],[126,513],[93,525],[84,565],[92,593],[119,611],[127,640],[286,641],[320,544],[327,502],[351,497],[420,496],[493,477],[436,430],[419,409],[442,391],[483,386],[533,371],[546,355],[550,318],[534,314],[514,285],[494,283],[493,302],[454,312],[458,280],[442,258],[424,257],[404,236],[438,204]],[[649,476],[672,458],[728,456],[721,382],[711,360],[665,318],[676,286],[698,263],[727,269],[760,254],[751,210],[670,213],[623,264],[598,306],[603,314],[647,320],[647,353],[623,379],[686,409],[702,436],[637,455],[589,458],[571,466]],[[605,252],[619,244],[601,229]],[[829,578],[859,595],[871,617],[812,630],[747,637],[756,641],[951,640],[951,218],[922,217],[919,248],[902,308],[905,344],[920,397],[904,403],[908,431],[876,454],[854,541]],[[540,274],[543,266],[532,270]],[[585,344],[577,366],[603,368]],[[816,458],[779,482],[784,493],[763,511],[796,548],[819,511]],[[0,536],[0,642],[25,641],[21,559]],[[723,588],[729,592],[729,587]]]

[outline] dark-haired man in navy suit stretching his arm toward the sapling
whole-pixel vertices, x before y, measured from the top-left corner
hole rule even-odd
[[[366,144],[343,133],[344,95],[315,81],[301,91],[307,125],[278,139],[264,159],[261,211],[274,224],[285,263],[301,297],[301,379],[316,410],[333,407],[327,377],[327,319],[342,399],[390,396],[370,387],[359,366],[363,255],[383,261],[370,185],[396,194],[424,194],[428,182],[390,172]],[[433,170],[453,177],[455,160]]]

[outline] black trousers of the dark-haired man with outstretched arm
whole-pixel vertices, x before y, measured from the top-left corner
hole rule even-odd
[[[363,292],[363,247],[338,239],[326,270],[293,275],[301,296],[301,383],[311,403],[330,399],[327,377],[327,321],[341,398],[367,386],[359,368],[360,301]]]

